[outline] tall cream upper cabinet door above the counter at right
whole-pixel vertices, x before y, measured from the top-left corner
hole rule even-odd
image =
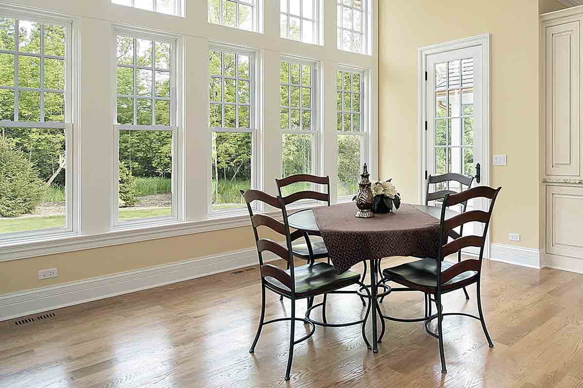
[[[579,176],[580,23],[546,27],[546,173]]]

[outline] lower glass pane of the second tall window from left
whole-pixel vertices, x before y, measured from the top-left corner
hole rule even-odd
[[[172,216],[172,132],[119,134],[118,220]]]

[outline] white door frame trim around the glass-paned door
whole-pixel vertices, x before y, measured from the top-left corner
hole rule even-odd
[[[427,56],[433,54],[440,54],[442,52],[463,49],[468,47],[482,47],[482,69],[475,69],[475,72],[482,74],[482,172],[481,179],[484,186],[490,185],[490,34],[476,35],[469,38],[463,38],[451,42],[445,42],[435,45],[419,48],[419,56],[417,62],[417,69],[419,70],[417,84],[417,114],[419,115],[418,129],[419,129],[419,146],[417,149],[417,165],[419,166],[419,203],[425,203],[426,180],[425,171],[427,170],[427,133],[425,130],[425,122],[427,120],[427,83],[425,81],[425,74],[427,72],[426,63]],[[484,247],[484,258],[490,257],[490,233],[486,238],[486,247]]]

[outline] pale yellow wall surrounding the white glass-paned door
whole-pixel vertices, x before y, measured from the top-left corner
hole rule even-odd
[[[503,187],[491,242],[538,248],[538,2],[384,0],[379,19],[381,175],[393,178],[403,200],[418,199],[417,48],[490,33],[491,152],[508,155],[507,166],[491,166],[490,186]]]

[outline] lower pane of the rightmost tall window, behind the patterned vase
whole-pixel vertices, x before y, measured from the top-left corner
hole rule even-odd
[[[362,164],[360,136],[338,136],[338,196],[356,194]]]

